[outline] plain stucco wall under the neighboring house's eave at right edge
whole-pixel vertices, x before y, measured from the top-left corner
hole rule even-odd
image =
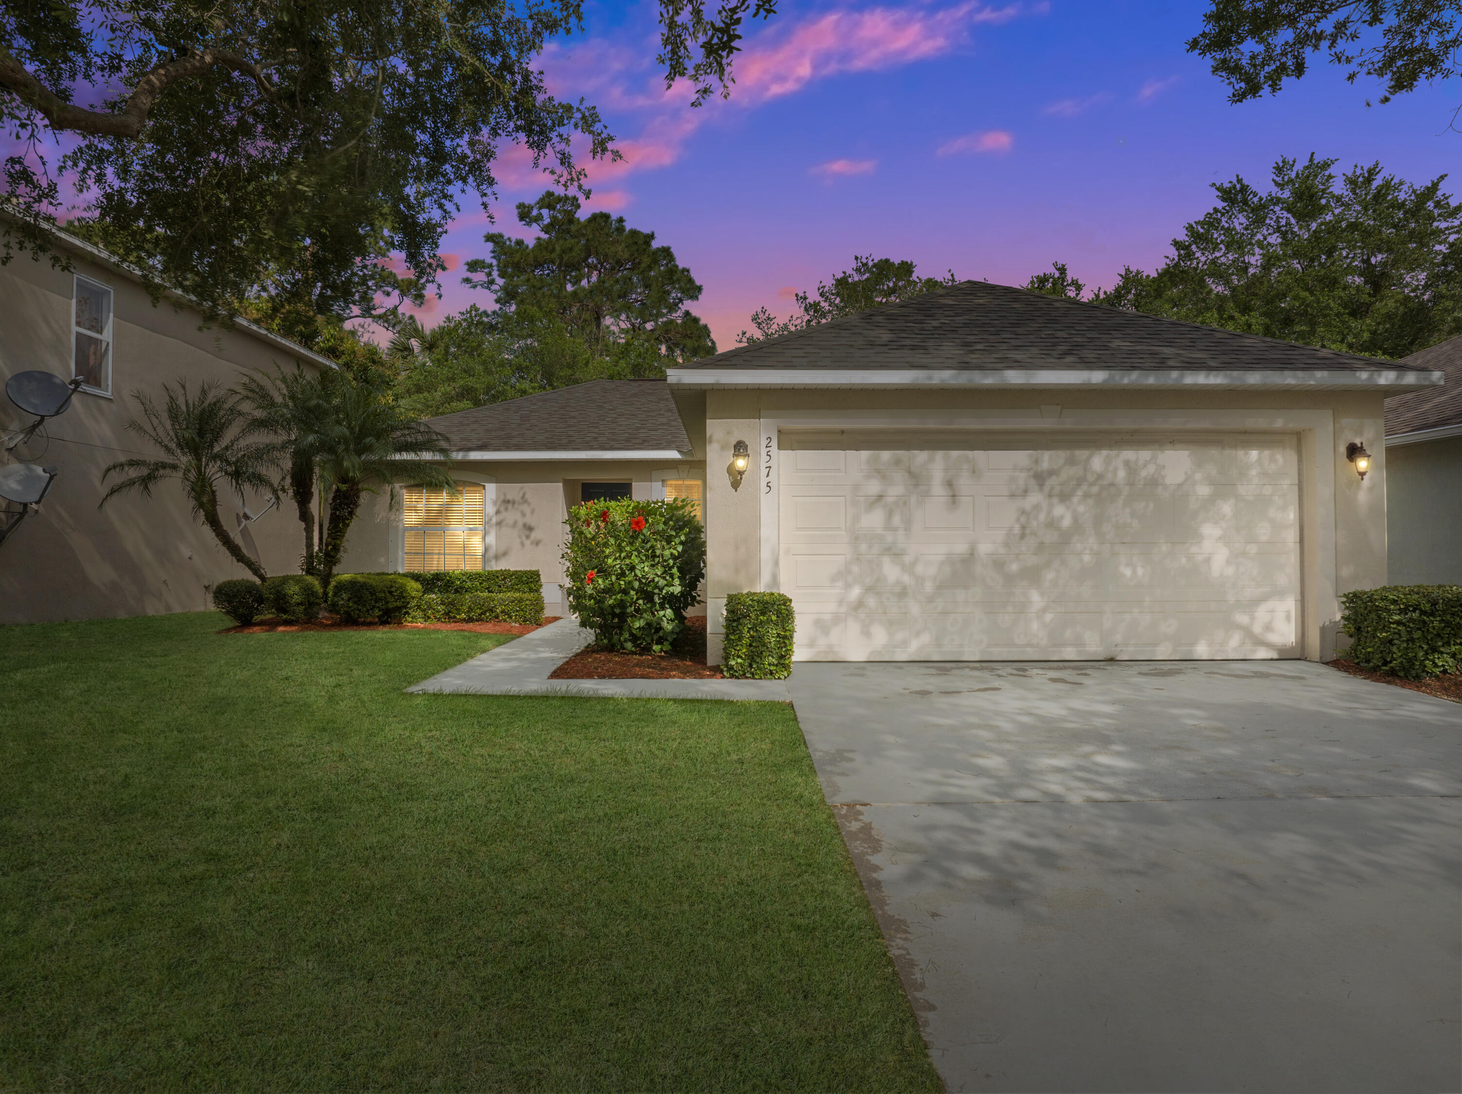
[[[1462,584],[1462,437],[1386,450],[1392,584]]]

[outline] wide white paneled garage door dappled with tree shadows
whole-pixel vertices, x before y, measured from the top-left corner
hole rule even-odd
[[[1288,437],[779,441],[803,660],[1295,657]]]

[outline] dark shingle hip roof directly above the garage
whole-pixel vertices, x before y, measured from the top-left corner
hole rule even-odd
[[[1420,368],[966,280],[702,358],[735,370]]]

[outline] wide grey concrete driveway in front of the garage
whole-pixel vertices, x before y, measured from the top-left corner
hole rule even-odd
[[[1462,705],[1304,662],[789,685],[949,1090],[1462,1090]]]

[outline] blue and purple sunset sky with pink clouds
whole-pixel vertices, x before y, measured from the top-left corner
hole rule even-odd
[[[728,101],[692,110],[655,66],[655,9],[589,3],[586,34],[542,58],[563,98],[599,107],[623,159],[591,169],[591,209],[654,231],[705,286],[693,310],[728,349],[766,305],[851,266],[1023,283],[1056,259],[1089,283],[1152,269],[1209,184],[1259,184],[1281,155],[1379,159],[1423,181],[1452,169],[1455,86],[1366,107],[1319,66],[1234,107],[1186,53],[1206,3],[787,3],[756,23]],[[547,178],[509,153],[499,225]],[[1462,183],[1458,183],[1462,185]],[[1447,187],[1449,190],[1452,187]],[[485,256],[475,199],[443,244],[456,269],[430,324],[490,298],[459,283]]]

